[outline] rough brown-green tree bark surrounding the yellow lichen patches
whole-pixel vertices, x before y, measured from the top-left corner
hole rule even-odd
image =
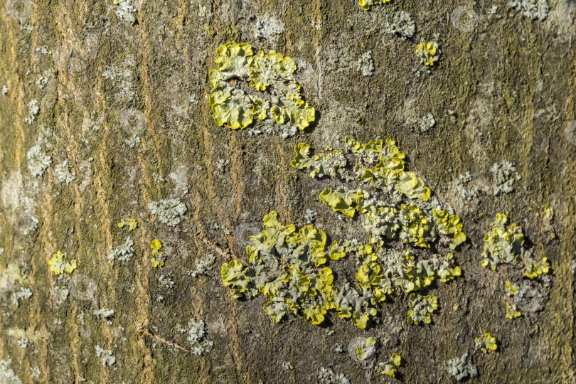
[[[9,0],[0,9],[0,382],[324,383],[329,368],[351,383],[449,383],[447,361],[468,352],[478,370],[469,383],[574,383],[576,2],[548,0],[543,20],[507,3],[392,0],[364,11],[356,0],[136,0],[122,13],[127,4],[112,0]],[[386,33],[398,11],[415,21],[412,38]],[[215,124],[208,73],[228,41],[294,59],[316,109],[311,127],[284,139],[275,123]],[[432,68],[414,52],[420,41],[439,43]],[[436,124],[423,130],[427,114]],[[220,266],[248,261],[247,238],[272,210],[297,228],[314,210],[330,242],[368,241],[361,219],[338,219],[318,198],[346,183],[290,166],[297,144],[342,149],[343,136],[394,139],[407,170],[462,218],[462,276],[422,291],[438,300],[430,324],[407,324],[409,294],[398,287],[359,329],[336,311],[321,325],[294,315],[274,323],[263,294],[233,299],[223,286]],[[45,170],[35,153],[49,156]],[[513,191],[496,196],[491,168],[502,159],[516,173]],[[477,191],[468,199],[462,188]],[[174,227],[149,209],[164,198],[186,206]],[[496,213],[523,228],[548,274],[481,267]],[[123,218],[137,228],[119,228]],[[128,236],[131,259],[110,260]],[[162,267],[150,262],[154,239]],[[76,260],[72,273],[50,271],[58,251]],[[192,277],[210,254],[214,264]],[[353,257],[328,265],[336,286],[356,286]],[[531,292],[514,319],[507,280]],[[193,353],[190,319],[205,322],[209,353]],[[475,348],[486,332],[496,351]],[[355,361],[351,342],[370,336],[375,356]],[[395,379],[376,369],[392,353],[402,356]]]

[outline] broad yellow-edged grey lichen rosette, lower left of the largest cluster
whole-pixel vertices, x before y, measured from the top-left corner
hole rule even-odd
[[[327,311],[335,309],[341,318],[366,328],[370,316],[377,313],[370,303],[391,292],[389,280],[388,284],[380,281],[380,270],[370,277],[375,293],[369,294],[375,299],[367,299],[349,286],[338,289],[332,270],[321,267],[327,262],[326,233],[312,225],[300,229],[293,224],[282,225],[274,211],[265,215],[264,225],[266,229],[252,236],[252,245],[246,247],[250,256],[246,266],[234,260],[222,266],[223,284],[232,289],[233,297],[266,294],[270,301],[263,309],[274,322],[287,314],[297,314],[304,321],[321,324]],[[332,257],[342,257],[349,246],[349,242],[342,242],[341,249],[333,249]],[[375,260],[369,246],[356,248],[366,259]]]

